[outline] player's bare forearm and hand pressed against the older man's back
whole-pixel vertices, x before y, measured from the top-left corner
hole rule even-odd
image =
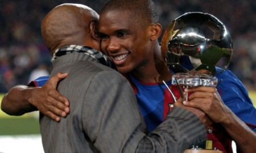
[[[3,112],[20,116],[24,113],[37,111],[60,121],[69,113],[69,101],[56,90],[57,83],[68,74],[57,73],[49,78],[43,87],[15,86],[3,97]]]

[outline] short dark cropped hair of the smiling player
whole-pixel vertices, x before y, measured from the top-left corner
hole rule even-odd
[[[131,11],[130,20],[142,23],[143,27],[148,24],[158,23],[159,19],[155,3],[152,0],[110,0],[102,7],[100,14],[113,10]]]

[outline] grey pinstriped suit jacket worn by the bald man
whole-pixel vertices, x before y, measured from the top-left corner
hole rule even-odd
[[[69,73],[57,90],[70,101],[60,122],[40,114],[45,152],[183,152],[205,141],[204,125],[176,107],[149,134],[129,82],[117,71],[83,53],[61,56],[51,75]]]

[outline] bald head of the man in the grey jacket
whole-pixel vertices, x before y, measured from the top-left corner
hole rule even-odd
[[[97,12],[85,5],[64,3],[56,6],[41,25],[44,43],[52,54],[65,45],[87,45],[98,49],[98,40],[94,37],[94,24],[98,18]]]

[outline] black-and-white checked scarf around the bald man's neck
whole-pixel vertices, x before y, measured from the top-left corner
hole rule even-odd
[[[103,65],[112,67],[114,69],[113,63],[109,60],[108,57],[106,57],[103,53],[98,52],[96,49],[93,49],[89,46],[80,46],[80,45],[68,45],[64,46],[62,48],[56,49],[51,61],[53,62],[56,58],[63,56],[65,54],[70,54],[73,52],[78,52],[78,53],[84,53],[93,59],[97,59],[100,63]]]

